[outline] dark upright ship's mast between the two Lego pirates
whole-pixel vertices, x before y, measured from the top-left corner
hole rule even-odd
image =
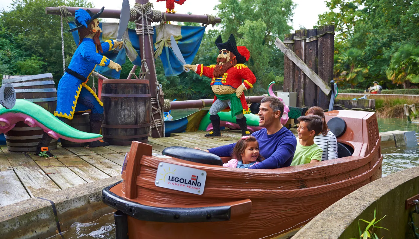
[[[148,0],[135,0],[135,3],[146,4],[148,3]],[[150,21],[148,23],[151,25]],[[144,24],[145,24],[145,21],[144,21]],[[157,97],[157,92],[156,92],[157,75],[155,74],[155,65],[154,65],[153,36],[150,36],[151,44],[148,37],[149,35],[146,33],[144,34],[144,39],[142,38],[142,34],[138,35],[138,38],[140,40],[140,47],[142,47],[143,42],[144,42],[144,55],[143,55],[142,49],[140,49],[140,54],[141,54],[141,59],[145,59],[145,62],[147,63],[147,67],[149,69],[149,73],[145,76],[145,78],[150,80],[150,94],[151,94],[151,98],[153,99]],[[141,70],[142,72],[145,72],[144,67],[142,67]],[[160,99],[157,99],[157,100],[160,100]],[[162,105],[163,107],[163,102],[160,102],[160,105]],[[155,108],[158,108],[157,103],[152,104],[152,106],[154,106]],[[155,110],[151,108],[151,113],[154,113],[154,112]],[[154,114],[155,120],[161,118],[160,113],[161,112]],[[158,126],[157,128],[153,128],[153,130],[151,131],[151,136],[153,138],[159,138],[159,133],[160,133],[160,136],[163,137],[163,128],[161,126]]]

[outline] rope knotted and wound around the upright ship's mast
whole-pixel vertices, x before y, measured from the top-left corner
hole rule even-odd
[[[152,15],[152,18],[150,18],[148,15]],[[134,8],[130,10],[130,21],[135,22],[135,32],[137,35],[142,35],[142,56],[145,58],[145,35],[148,36],[148,42],[150,43],[150,46],[153,46],[153,42],[151,41],[151,36],[154,34],[153,26],[149,25],[153,21],[165,21],[166,20],[166,14],[163,14],[160,11],[153,10],[153,3],[146,3],[146,4],[140,4],[135,3]],[[156,68],[154,59],[152,59],[153,69],[154,69],[154,75],[157,76]],[[144,67],[146,74],[150,74],[150,70],[148,69],[146,59],[141,60],[141,69]],[[146,74],[143,74],[144,77]],[[140,77],[142,78],[142,77]],[[161,84],[156,79],[156,97],[151,97],[151,125],[150,125],[150,136],[153,128],[158,129],[158,127],[162,127],[163,135],[160,134],[160,131],[157,130],[159,137],[164,137],[165,127],[164,127],[164,118],[163,118],[163,105],[160,105],[160,96],[163,97],[164,93],[161,87]],[[157,105],[157,108],[153,105]],[[154,110],[154,112],[153,112]],[[158,118],[155,118],[155,114],[159,114]]]

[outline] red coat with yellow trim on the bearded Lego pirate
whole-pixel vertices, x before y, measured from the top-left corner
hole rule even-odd
[[[219,78],[214,78],[212,76],[214,72],[215,65],[210,65],[204,67],[203,64],[197,66],[196,73],[200,76],[204,75],[212,79],[210,85],[228,85],[237,89],[240,85],[248,90],[253,87],[253,84],[256,82],[256,77],[253,72],[244,64],[236,64],[233,67],[230,67],[227,72],[224,73],[223,76]],[[244,81],[242,82],[242,79]],[[214,101],[217,97],[214,97]],[[250,113],[250,110],[246,103],[246,98],[244,97],[244,93],[240,97],[241,105],[243,106],[243,113]]]

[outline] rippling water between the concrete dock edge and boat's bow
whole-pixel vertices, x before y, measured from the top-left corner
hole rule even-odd
[[[94,239],[94,238],[115,238],[114,213],[101,216],[98,220],[90,223],[75,222],[70,230],[57,234],[48,239]]]

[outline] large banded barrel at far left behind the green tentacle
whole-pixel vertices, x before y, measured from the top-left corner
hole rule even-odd
[[[29,100],[50,113],[57,108],[57,89],[51,73],[40,75],[3,75],[2,83],[10,83],[16,90],[17,99]],[[5,133],[6,144],[10,151],[35,152],[36,145],[44,131],[39,127],[29,127],[23,122],[16,123],[15,128]],[[57,148],[57,140],[53,139],[49,149]]]

